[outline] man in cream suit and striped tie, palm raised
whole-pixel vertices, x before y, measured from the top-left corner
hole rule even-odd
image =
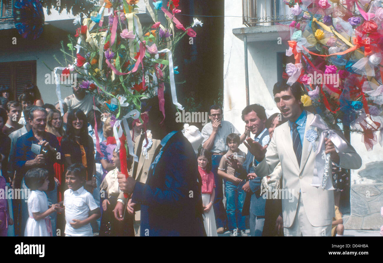
[[[301,93],[298,82],[291,87],[286,82],[277,82],[273,89],[274,100],[289,121],[275,128],[268,147],[262,147],[251,138],[247,139],[248,145],[245,144],[260,162],[254,166],[258,176],[271,174],[275,166],[281,163],[282,188],[287,189],[289,195],[294,195],[293,200],[287,197],[282,199],[285,236],[330,236],[332,217],[335,214],[334,193],[311,186],[316,153],[309,149],[310,142],[304,135],[306,131],[314,129],[310,123],[315,115],[302,109]],[[321,130],[318,133],[320,135]],[[340,131],[336,133],[346,141]],[[325,151],[326,154],[331,153],[332,162],[346,169],[360,168],[362,159],[348,142],[347,148],[337,153],[332,141],[328,138],[325,141]]]

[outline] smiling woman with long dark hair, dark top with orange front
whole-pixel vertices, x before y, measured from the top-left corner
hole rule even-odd
[[[85,189],[93,193],[96,187],[96,164],[93,139],[88,135],[88,122],[80,109],[72,110],[68,115],[67,133],[61,140],[62,153],[65,155],[64,169],[74,163],[82,163],[87,169]]]

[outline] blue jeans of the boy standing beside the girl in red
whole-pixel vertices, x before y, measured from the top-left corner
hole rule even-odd
[[[245,201],[245,191],[242,190],[244,182],[236,185],[226,181],[226,213],[228,215],[229,230],[246,229],[245,217],[242,216],[242,207]]]

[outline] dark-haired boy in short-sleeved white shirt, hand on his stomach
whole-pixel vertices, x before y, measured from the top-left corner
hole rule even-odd
[[[65,236],[66,237],[92,237],[90,222],[100,217],[100,207],[96,204],[92,194],[83,187],[86,178],[86,169],[82,164],[75,163],[69,166],[65,174],[65,183],[68,190],[64,192]]]

